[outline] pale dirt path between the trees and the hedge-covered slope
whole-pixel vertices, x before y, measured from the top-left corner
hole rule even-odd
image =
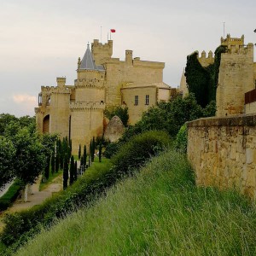
[[[52,196],[53,193],[59,192],[62,190],[62,175],[55,177],[51,183],[44,188],[43,190],[39,191],[41,177],[38,178],[37,182],[32,184],[32,195],[28,195],[28,201],[23,202],[20,199],[16,200],[12,207],[9,207],[8,210],[2,212],[0,214],[0,231],[3,229],[3,216],[6,213],[12,212],[20,212],[25,209],[29,209],[33,206],[41,204],[45,199]]]

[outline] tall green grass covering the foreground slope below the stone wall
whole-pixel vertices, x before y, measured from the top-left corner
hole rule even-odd
[[[197,188],[170,150],[15,255],[255,255],[255,212],[235,191]]]

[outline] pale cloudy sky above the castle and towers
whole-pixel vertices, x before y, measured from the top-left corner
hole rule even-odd
[[[177,87],[186,56],[214,52],[224,32],[255,44],[255,13],[255,0],[1,0],[0,113],[34,115],[41,85],[62,76],[73,84],[101,26],[102,43],[116,30],[113,57],[132,49],[143,61],[166,62],[164,82]]]

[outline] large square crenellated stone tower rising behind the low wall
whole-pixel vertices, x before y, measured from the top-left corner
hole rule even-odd
[[[216,92],[217,116],[244,113],[244,94],[253,90],[253,44],[244,37],[221,38],[227,51],[221,55]]]

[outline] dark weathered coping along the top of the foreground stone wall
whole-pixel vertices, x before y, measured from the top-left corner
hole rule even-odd
[[[207,126],[253,126],[256,125],[256,113],[243,114],[232,117],[210,117],[195,119],[186,123],[188,127],[207,127]]]

